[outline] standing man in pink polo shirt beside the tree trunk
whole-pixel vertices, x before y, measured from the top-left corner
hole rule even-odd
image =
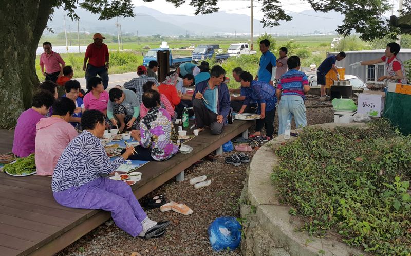
[[[63,61],[59,53],[54,52],[51,49],[50,42],[43,43],[44,53],[40,56],[40,69],[42,70],[43,76],[46,77],[46,81],[51,80],[55,83],[57,78],[62,75],[66,63]],[[46,71],[44,71],[44,66],[46,66]]]

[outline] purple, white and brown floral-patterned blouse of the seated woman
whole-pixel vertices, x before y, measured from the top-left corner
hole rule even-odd
[[[140,133],[140,145],[151,149],[154,160],[167,160],[178,152],[180,140],[164,108],[148,109],[147,115],[140,120]]]

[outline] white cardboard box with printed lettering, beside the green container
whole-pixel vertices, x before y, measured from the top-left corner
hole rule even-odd
[[[384,111],[385,92],[366,91],[358,96],[357,113],[381,117]]]

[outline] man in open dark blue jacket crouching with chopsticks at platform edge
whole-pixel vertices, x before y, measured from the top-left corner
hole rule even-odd
[[[210,78],[196,85],[193,94],[193,109],[197,129],[201,132],[210,126],[214,135],[222,132],[230,112],[230,92],[223,81],[226,70],[221,66],[214,66],[210,71]]]

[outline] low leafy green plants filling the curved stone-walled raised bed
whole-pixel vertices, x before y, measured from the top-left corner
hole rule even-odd
[[[373,255],[411,254],[411,135],[383,119],[369,129],[308,127],[276,154],[271,178],[303,230],[338,233]]]

